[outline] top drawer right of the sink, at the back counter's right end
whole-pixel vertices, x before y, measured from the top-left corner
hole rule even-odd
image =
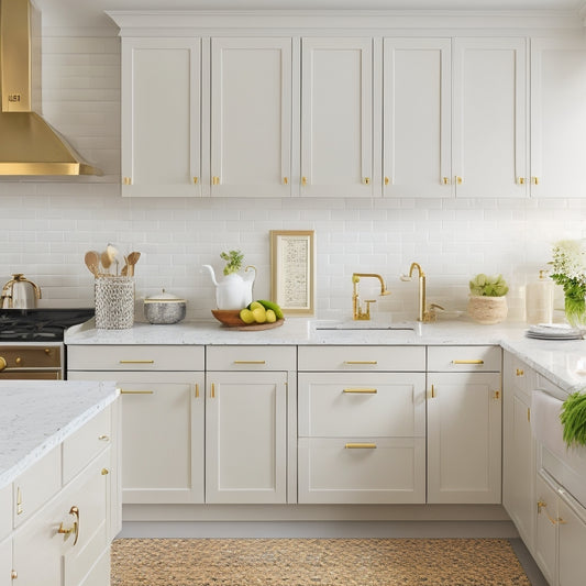
[[[501,362],[500,346],[428,346],[430,373],[499,373]]]

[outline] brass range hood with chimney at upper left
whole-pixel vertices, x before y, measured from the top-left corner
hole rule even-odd
[[[36,112],[40,14],[30,0],[0,0],[0,175],[101,175]],[[38,58],[37,58],[38,57]]]

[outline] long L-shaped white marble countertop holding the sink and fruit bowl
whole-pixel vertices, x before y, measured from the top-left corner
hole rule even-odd
[[[397,329],[388,329],[391,328]],[[321,329],[333,328],[333,329]],[[338,329],[342,328],[342,329]],[[412,328],[412,329],[401,329]],[[189,344],[189,345],[501,345],[563,390],[586,387],[586,341],[531,340],[526,323],[482,325],[466,318],[421,324],[380,318],[372,322],[287,318],[279,328],[240,331],[214,321],[173,325],[135,323],[128,330],[97,330],[90,320],[67,330],[73,344]]]

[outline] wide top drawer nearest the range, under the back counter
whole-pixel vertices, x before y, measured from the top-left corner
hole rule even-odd
[[[67,346],[69,371],[203,371],[203,346]]]

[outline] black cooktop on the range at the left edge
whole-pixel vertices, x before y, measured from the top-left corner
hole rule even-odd
[[[60,342],[67,328],[93,313],[93,308],[0,309],[0,342]]]

